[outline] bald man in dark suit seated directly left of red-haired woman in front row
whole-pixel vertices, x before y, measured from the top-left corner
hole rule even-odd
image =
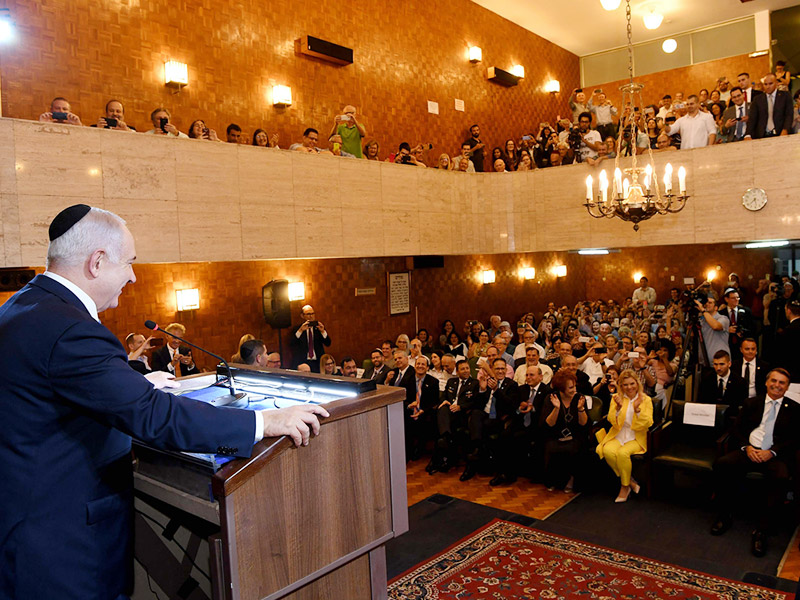
[[[550,395],[550,387],[542,381],[542,370],[529,365],[525,372],[525,383],[517,388],[516,407],[510,407],[510,418],[500,434],[497,452],[497,475],[489,485],[514,483],[520,473],[530,465],[531,447],[538,440],[539,416],[544,401]],[[509,401],[513,400],[509,397]]]

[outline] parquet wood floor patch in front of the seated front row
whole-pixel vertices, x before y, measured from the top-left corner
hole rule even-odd
[[[544,519],[577,495],[566,494],[561,490],[548,492],[543,485],[531,483],[523,477],[512,485],[494,488],[489,486],[491,477],[482,475],[462,482],[458,478],[463,468],[451,469],[449,473],[428,475],[425,472],[427,464],[428,457],[423,457],[406,466],[409,506],[432,494],[445,494],[499,510]]]

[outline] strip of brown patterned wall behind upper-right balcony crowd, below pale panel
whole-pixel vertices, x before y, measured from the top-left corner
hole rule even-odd
[[[674,97],[676,92],[683,92],[683,96],[686,98],[690,94],[697,94],[703,88],[711,93],[711,90],[716,87],[717,79],[723,75],[731,83],[730,87],[733,87],[738,85],[736,79],[739,73],[750,73],[750,77],[753,80],[757,80],[763,77],[769,71],[769,68],[769,56],[750,58],[747,54],[741,54],[679,69],[651,73],[650,75],[636,77],[636,81],[643,83],[645,86],[642,92],[645,104],[658,106],[658,101],[661,100],[664,94],[670,94]],[[587,89],[591,92],[595,88],[603,88],[603,91],[614,105],[619,107],[622,103],[622,92],[619,91],[619,86],[627,83],[627,81],[627,79],[611,81]]]

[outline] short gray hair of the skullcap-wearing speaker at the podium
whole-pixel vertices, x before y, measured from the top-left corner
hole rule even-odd
[[[95,250],[104,250],[112,262],[122,260],[125,220],[112,212],[92,207],[80,221],[47,248],[47,268],[75,267]]]

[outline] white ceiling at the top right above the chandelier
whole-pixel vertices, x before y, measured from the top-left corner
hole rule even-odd
[[[626,44],[625,2],[606,11],[600,0],[473,0],[578,56]],[[764,10],[795,6],[798,0],[631,0],[633,43],[646,42],[746,17]],[[645,29],[642,16],[651,8],[664,15],[656,30]]]

